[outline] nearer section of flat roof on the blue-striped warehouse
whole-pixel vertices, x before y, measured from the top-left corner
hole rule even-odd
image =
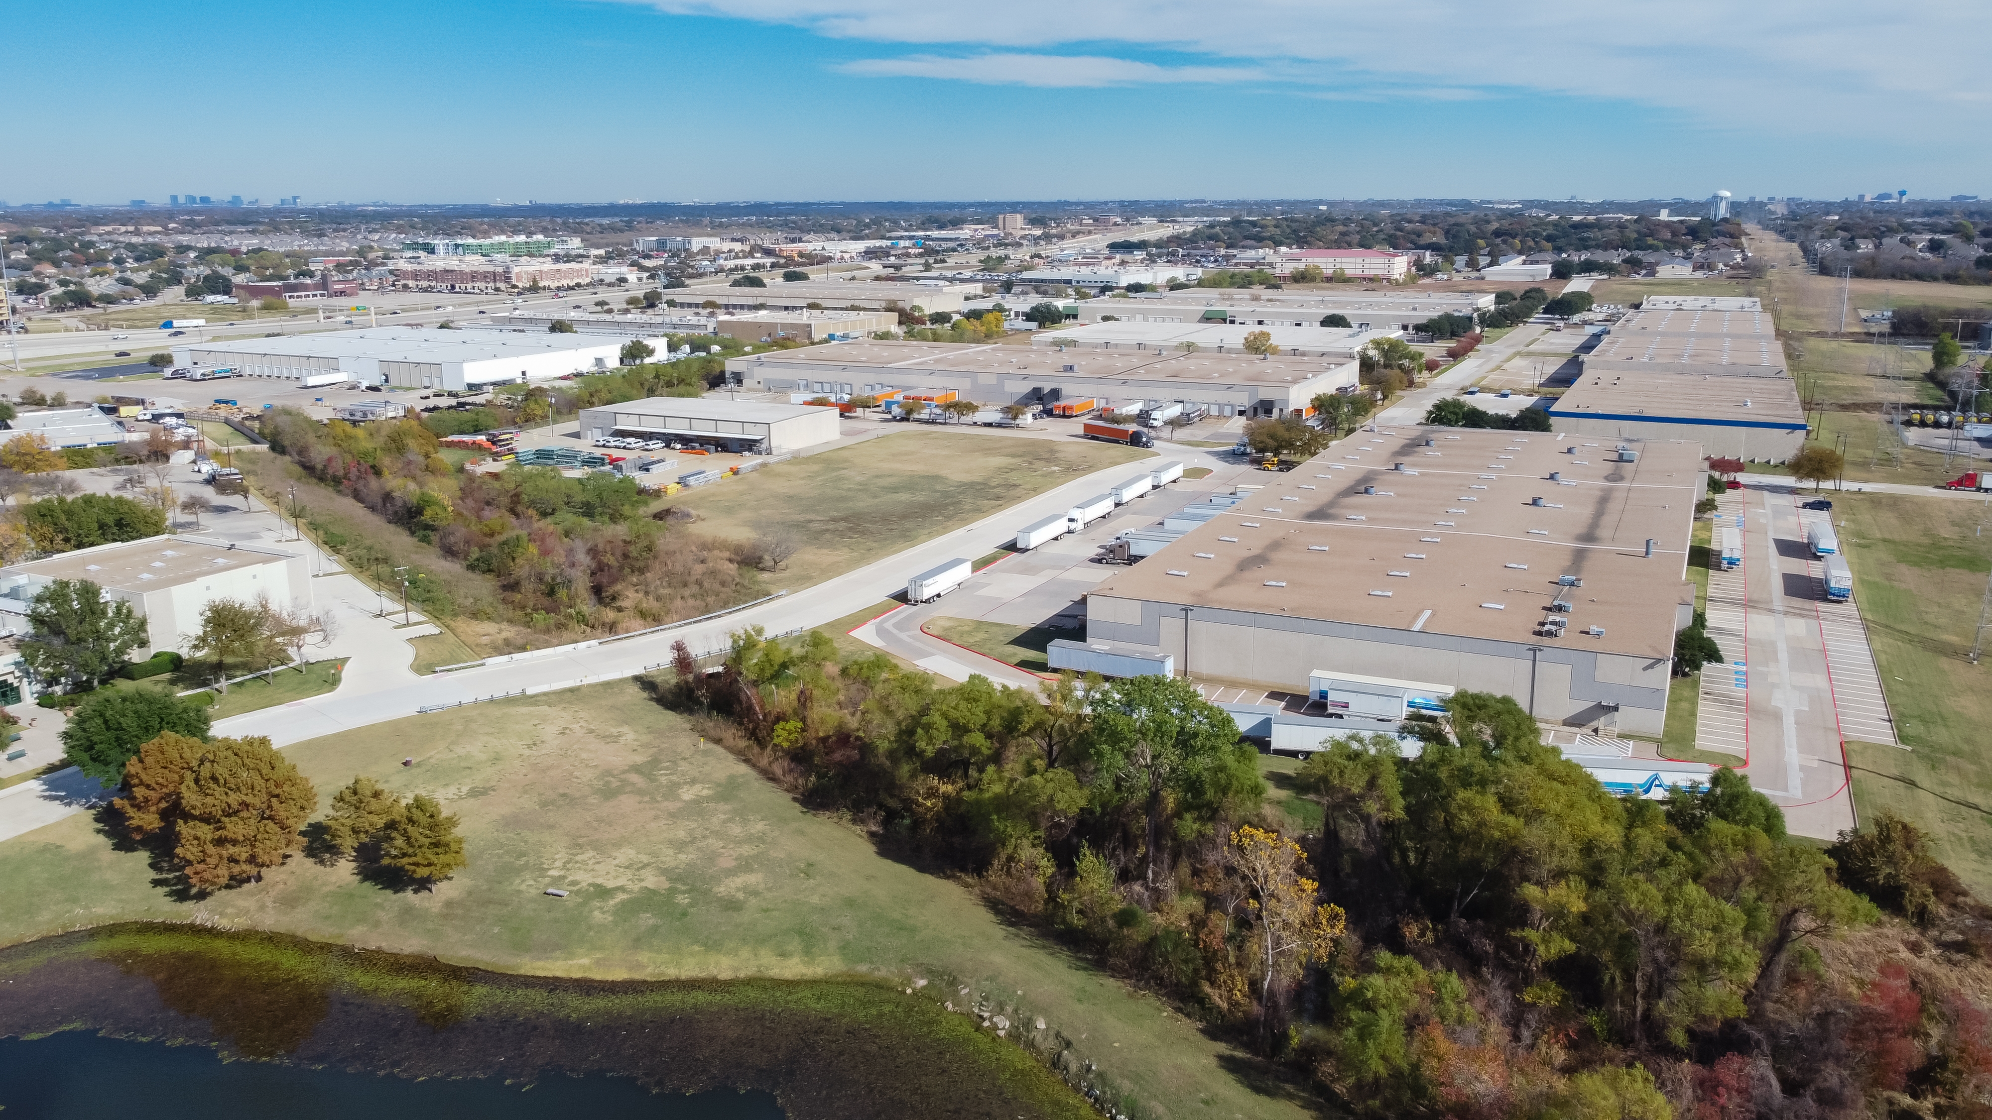
[[[1635,363],[1592,363],[1550,405],[1550,417],[1805,428],[1789,377],[1681,373]]]

